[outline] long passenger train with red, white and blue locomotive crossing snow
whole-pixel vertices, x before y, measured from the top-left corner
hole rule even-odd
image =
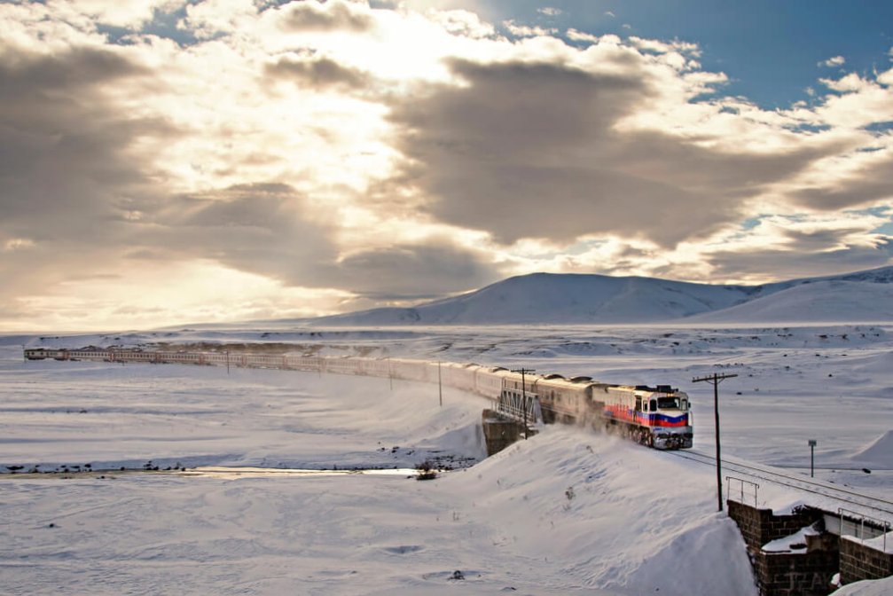
[[[534,374],[501,366],[391,357],[322,357],[142,350],[119,348],[26,348],[29,360],[98,360],[121,363],[189,364],[278,368],[313,373],[360,374],[437,382],[486,399],[496,408],[523,411],[525,422],[585,424],[618,432],[654,449],[689,449],[694,440],[689,396],[670,385],[622,385],[588,376]]]

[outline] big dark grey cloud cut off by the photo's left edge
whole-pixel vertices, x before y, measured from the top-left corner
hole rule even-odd
[[[31,239],[103,236],[146,176],[129,160],[134,139],[169,132],[130,120],[102,87],[146,74],[104,50],[54,56],[7,51],[0,64],[0,231]],[[129,209],[130,207],[123,207]]]

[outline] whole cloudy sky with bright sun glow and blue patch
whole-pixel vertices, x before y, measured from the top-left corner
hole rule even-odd
[[[0,3],[0,330],[893,264],[893,4]]]

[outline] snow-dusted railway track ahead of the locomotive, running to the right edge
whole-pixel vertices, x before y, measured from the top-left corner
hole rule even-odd
[[[716,465],[714,456],[694,449],[686,449],[684,451],[664,451],[664,453],[671,457],[689,459],[699,464],[704,464],[705,466]],[[778,468],[772,468],[772,466],[760,466],[752,462],[746,463],[723,458],[722,471],[745,476],[746,480],[752,478],[765,483],[773,483],[796,489],[797,491],[805,491],[821,496],[824,499],[832,499],[841,504],[846,504],[847,508],[870,509],[873,516],[878,516],[880,514],[880,516],[887,521],[893,521],[893,500],[891,499],[866,495],[831,483],[823,483],[812,478],[805,478],[801,475],[785,474],[784,472],[779,471]]]

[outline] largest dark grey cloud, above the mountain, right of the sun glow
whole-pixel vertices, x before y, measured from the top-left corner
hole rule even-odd
[[[635,55],[622,60],[629,74],[453,61],[466,86],[395,106],[413,166],[394,182],[421,189],[438,220],[505,243],[611,233],[670,247],[737,220],[743,199],[830,151],[729,153],[618,131],[655,92]]]

